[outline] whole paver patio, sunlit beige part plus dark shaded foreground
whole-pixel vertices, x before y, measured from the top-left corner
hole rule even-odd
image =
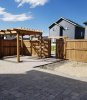
[[[11,60],[0,60],[0,100],[87,100],[87,82],[33,68],[54,59]]]

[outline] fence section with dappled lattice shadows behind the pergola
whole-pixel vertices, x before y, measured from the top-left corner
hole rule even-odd
[[[51,55],[51,41],[47,40],[33,40],[24,41],[24,55],[50,57]]]

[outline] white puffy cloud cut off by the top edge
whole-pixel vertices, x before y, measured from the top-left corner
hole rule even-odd
[[[15,0],[15,2],[18,2],[18,7],[22,6],[25,3],[28,3],[30,5],[30,8],[35,8],[36,6],[43,6],[48,2],[48,0]]]

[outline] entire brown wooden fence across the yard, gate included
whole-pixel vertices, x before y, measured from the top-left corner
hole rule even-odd
[[[0,58],[3,56],[13,56],[17,54],[16,40],[0,40]],[[51,40],[23,41],[20,54],[38,57],[51,56]],[[56,57],[59,59],[69,59],[74,61],[87,62],[87,40],[58,39],[56,41]]]

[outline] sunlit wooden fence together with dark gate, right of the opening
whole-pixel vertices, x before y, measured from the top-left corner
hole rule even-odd
[[[56,41],[56,57],[80,62],[87,62],[87,40]]]

